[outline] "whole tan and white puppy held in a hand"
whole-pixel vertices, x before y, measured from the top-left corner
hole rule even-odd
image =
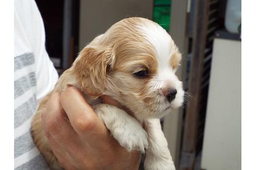
[[[182,82],[175,76],[180,61],[180,52],[161,26],[144,18],[127,18],[87,45],[60,76],[53,92],[78,87],[122,147],[142,152],[146,148],[145,169],[175,169],[159,118],[183,103]],[[98,97],[104,94],[130,109],[134,117],[100,103]],[[41,121],[49,95],[33,118],[32,135],[50,167],[61,169]]]

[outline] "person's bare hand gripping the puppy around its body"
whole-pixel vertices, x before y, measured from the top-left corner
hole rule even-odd
[[[118,105],[109,98],[103,101]],[[65,169],[138,169],[141,153],[121,147],[75,87],[50,96],[42,122],[49,145]]]

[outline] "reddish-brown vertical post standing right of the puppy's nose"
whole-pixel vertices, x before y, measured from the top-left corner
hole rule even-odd
[[[191,104],[186,109],[180,168],[182,170],[193,169],[195,161],[198,116],[200,109],[201,79],[207,37],[209,5],[209,0],[195,1],[193,50],[189,75],[189,93],[192,94],[195,99],[190,100]]]

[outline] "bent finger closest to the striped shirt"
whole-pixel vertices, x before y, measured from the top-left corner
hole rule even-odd
[[[46,104],[46,110],[42,113],[42,123],[46,133],[61,146],[70,143],[78,135],[68,124],[65,111],[60,105],[60,94],[53,93]]]

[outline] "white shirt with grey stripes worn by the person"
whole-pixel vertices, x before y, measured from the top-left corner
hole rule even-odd
[[[49,169],[31,136],[37,102],[53,89],[57,72],[45,50],[44,25],[33,0],[15,1],[15,169]]]

